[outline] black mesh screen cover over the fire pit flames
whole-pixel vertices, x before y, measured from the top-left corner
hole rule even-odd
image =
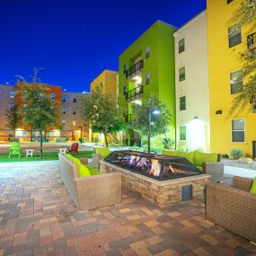
[[[180,156],[116,151],[112,152],[104,161],[158,181],[202,174],[195,165]]]

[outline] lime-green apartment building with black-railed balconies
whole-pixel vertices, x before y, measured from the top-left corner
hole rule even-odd
[[[127,122],[134,120],[132,104],[140,104],[154,92],[172,112],[170,137],[175,141],[175,68],[176,29],[157,21],[119,56],[119,106]],[[140,144],[132,130],[126,134],[128,145]]]

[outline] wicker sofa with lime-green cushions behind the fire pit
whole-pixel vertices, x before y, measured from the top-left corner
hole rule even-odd
[[[221,154],[168,149],[163,149],[162,154],[187,158],[187,160],[195,164],[200,171],[211,175],[212,181],[219,182],[223,179],[224,163],[220,162]]]

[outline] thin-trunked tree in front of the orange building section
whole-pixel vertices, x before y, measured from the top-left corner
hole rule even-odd
[[[40,158],[43,157],[43,131],[49,126],[58,127],[60,106],[49,97],[49,93],[43,84],[18,83],[21,86],[23,107],[21,113],[24,123],[40,132]]]

